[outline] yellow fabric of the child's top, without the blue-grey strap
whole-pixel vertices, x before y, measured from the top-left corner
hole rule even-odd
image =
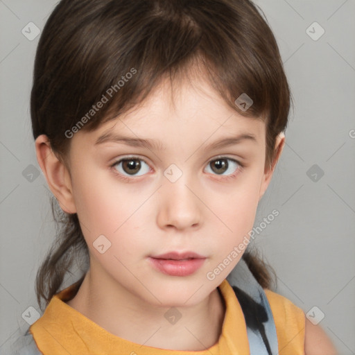
[[[52,297],[30,332],[44,355],[249,355],[243,311],[233,288],[226,279],[218,288],[226,306],[222,333],[218,343],[198,352],[159,349],[114,336],[65,303],[74,296],[73,285]],[[304,355],[304,311],[282,295],[265,292],[275,319],[279,355]]]

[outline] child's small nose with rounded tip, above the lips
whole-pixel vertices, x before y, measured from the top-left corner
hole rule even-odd
[[[198,192],[182,177],[176,182],[166,180],[157,196],[157,224],[162,229],[185,230],[201,223],[201,205]],[[191,185],[193,186],[193,185]]]

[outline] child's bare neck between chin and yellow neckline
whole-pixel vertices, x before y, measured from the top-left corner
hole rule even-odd
[[[218,343],[225,318],[225,302],[218,288],[199,304],[179,307],[182,316],[172,324],[164,317],[171,307],[142,302],[123,287],[112,290],[110,283],[95,277],[90,270],[67,304],[114,336],[181,351],[205,350]]]

